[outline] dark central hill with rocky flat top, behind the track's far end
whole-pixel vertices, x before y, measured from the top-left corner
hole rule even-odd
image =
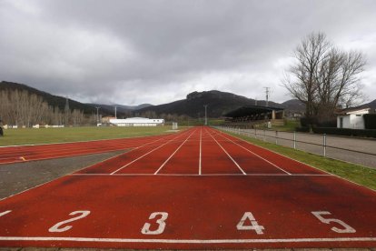
[[[191,117],[203,117],[207,106],[208,117],[220,117],[227,112],[242,107],[243,105],[255,105],[255,100],[242,95],[220,91],[193,92],[185,99],[163,105],[153,105],[134,111],[134,115],[142,115],[145,112],[155,112],[157,115],[175,114]],[[257,101],[257,105],[265,105],[265,101]],[[270,106],[282,107],[282,105],[269,102]]]

